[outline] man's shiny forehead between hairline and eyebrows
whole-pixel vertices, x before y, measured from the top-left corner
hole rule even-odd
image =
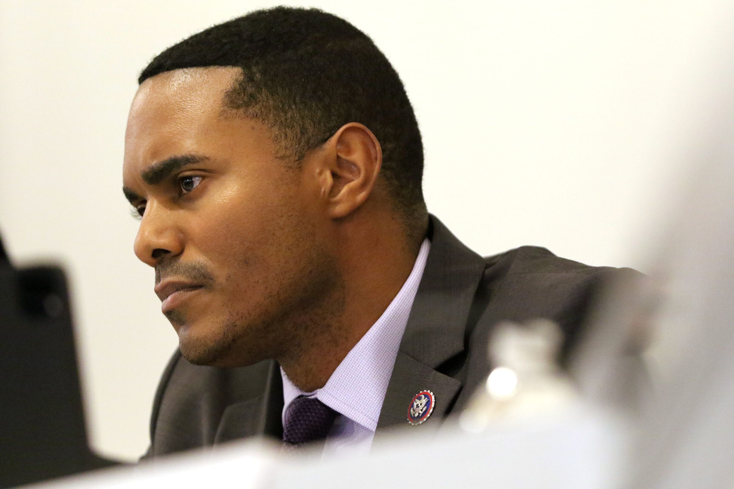
[[[239,68],[172,70],[145,80],[128,115],[123,172],[189,152],[222,124],[222,98]]]

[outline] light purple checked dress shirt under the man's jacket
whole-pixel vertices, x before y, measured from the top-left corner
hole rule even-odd
[[[291,401],[299,395],[316,397],[339,413],[327,436],[324,455],[369,452],[390,375],[393,374],[400,340],[413,307],[415,293],[418,292],[430,248],[431,242],[426,238],[418,251],[413,271],[398,295],[357,345],[346,354],[326,385],[313,392],[301,391],[294,386],[286,372],[280,369],[285,401],[283,416]]]

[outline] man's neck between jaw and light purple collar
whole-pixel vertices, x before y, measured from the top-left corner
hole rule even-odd
[[[295,321],[291,331],[299,334],[276,359],[302,391],[327,383],[399,293],[418,256],[421,242],[408,244],[397,221],[360,218],[338,224],[341,279]]]

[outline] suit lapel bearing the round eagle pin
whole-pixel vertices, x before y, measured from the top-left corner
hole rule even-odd
[[[434,411],[421,430],[435,429],[448,415],[462,384],[439,372],[464,350],[464,336],[476,289],[484,273],[482,257],[464,246],[430,216],[431,251],[400,343],[377,430],[407,425],[407,411],[422,390],[435,395]]]

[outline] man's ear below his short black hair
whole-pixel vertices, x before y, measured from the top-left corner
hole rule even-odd
[[[382,167],[382,148],[372,131],[357,122],[339,128],[326,146],[329,168],[322,195],[330,217],[342,218],[371,194]]]

